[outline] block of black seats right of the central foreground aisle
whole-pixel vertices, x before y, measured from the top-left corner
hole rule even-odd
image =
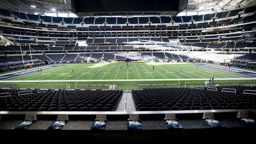
[[[237,93],[221,92],[222,88],[236,88]],[[132,90],[136,110],[200,110],[256,108],[255,95],[243,94],[245,89],[256,87],[217,87],[218,91],[165,88]]]

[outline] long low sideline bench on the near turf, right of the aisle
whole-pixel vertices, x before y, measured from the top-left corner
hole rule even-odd
[[[137,84],[136,89],[144,88],[178,88],[180,84]]]

